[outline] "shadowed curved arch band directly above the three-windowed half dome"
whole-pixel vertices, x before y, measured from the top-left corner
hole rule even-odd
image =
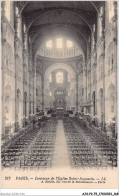
[[[42,43],[47,41],[48,37],[49,37],[49,39],[50,39],[50,37],[51,38],[53,37],[53,36],[49,36],[49,34],[47,34],[47,32],[50,32],[50,34],[52,35],[54,27],[56,29],[59,29],[58,31],[63,29],[62,30],[63,37],[69,37],[69,39],[71,39],[75,43],[78,43],[77,45],[80,49],[81,55],[83,56],[83,58],[86,58],[87,39],[84,37],[83,33],[81,34],[81,32],[77,32],[77,30],[74,27],[70,26],[70,28],[69,28],[69,25],[63,27],[62,24],[54,24],[54,25],[50,24],[48,26],[43,26],[38,31],[38,33],[35,34],[34,38],[32,39],[31,44],[33,45],[33,48],[34,48],[34,52],[33,52],[34,59],[36,59],[36,57],[38,55],[39,48],[42,46]]]

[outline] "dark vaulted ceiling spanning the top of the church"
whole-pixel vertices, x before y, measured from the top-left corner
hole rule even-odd
[[[97,22],[102,1],[17,1],[34,53],[47,36],[66,34],[87,50],[87,40]]]

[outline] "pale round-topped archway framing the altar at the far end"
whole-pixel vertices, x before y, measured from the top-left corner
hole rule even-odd
[[[61,73],[65,74],[65,82],[67,78],[67,84],[69,84],[69,91],[67,86],[65,86],[65,90],[61,88],[61,83],[63,81],[63,75]],[[56,74],[58,76],[60,74],[60,82],[58,85],[52,85],[53,86],[53,91],[51,92],[51,75]],[[55,77],[56,77],[55,76]],[[70,78],[70,80],[69,80]],[[67,92],[66,92],[67,91]],[[44,107],[49,108],[53,106],[53,102],[55,97],[57,97],[57,100],[59,100],[59,97],[61,97],[61,101],[57,103],[63,103],[63,95],[65,95],[65,101],[64,104],[65,109],[66,108],[75,108],[76,107],[76,81],[75,81],[75,72],[74,70],[67,64],[63,63],[56,63],[51,65],[45,72],[44,75]],[[66,102],[66,103],[65,103]]]

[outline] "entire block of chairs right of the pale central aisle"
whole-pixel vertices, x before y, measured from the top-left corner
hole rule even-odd
[[[81,126],[80,126],[81,125]],[[117,151],[75,118],[64,119],[64,129],[72,167],[116,167]]]

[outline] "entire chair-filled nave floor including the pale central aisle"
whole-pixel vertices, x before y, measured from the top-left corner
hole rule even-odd
[[[29,126],[2,147],[2,167],[22,169],[117,167],[117,149],[74,118]]]

